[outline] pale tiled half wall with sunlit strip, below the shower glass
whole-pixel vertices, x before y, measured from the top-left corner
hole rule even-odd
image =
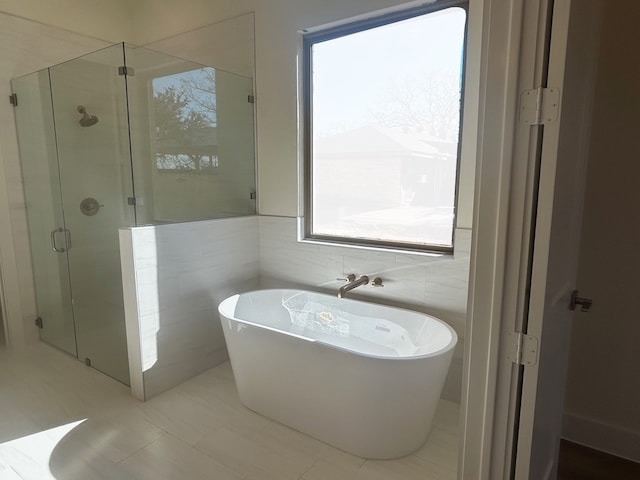
[[[134,396],[226,360],[217,307],[258,287],[258,218],[121,229],[120,250]]]

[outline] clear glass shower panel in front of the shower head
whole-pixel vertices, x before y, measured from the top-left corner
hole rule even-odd
[[[123,46],[51,67],[77,356],[129,383],[118,229],[135,225]]]

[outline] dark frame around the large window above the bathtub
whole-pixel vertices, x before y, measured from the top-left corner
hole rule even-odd
[[[454,205],[451,246],[438,244],[419,244],[410,242],[394,242],[389,240],[375,240],[372,238],[354,238],[313,233],[313,102],[312,102],[312,48],[316,43],[344,37],[365,30],[408,20],[421,15],[438,12],[451,7],[458,7],[465,11],[466,19],[463,32],[462,59],[460,66],[460,120],[458,127],[458,145],[456,158],[456,176],[454,186]],[[427,5],[420,5],[408,9],[386,12],[368,18],[357,19],[329,26],[327,28],[307,29],[302,31],[302,168],[303,168],[303,206],[304,221],[302,240],[315,243],[335,244],[341,246],[365,247],[381,250],[396,250],[416,253],[453,254],[455,246],[455,231],[457,228],[458,199],[460,187],[460,166],[462,152],[462,127],[465,102],[466,52],[469,30],[469,0],[434,1]]]

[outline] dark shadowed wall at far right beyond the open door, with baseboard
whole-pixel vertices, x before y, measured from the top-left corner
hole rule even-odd
[[[640,462],[640,5],[603,3],[563,435]]]

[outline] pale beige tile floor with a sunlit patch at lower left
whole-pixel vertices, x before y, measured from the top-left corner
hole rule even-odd
[[[398,460],[342,452],[246,409],[229,363],[141,403],[46,345],[0,349],[0,479],[448,480],[458,405]]]

